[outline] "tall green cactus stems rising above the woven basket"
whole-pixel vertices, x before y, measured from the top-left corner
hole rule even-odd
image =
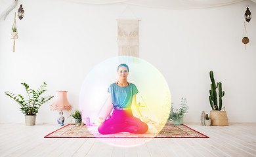
[[[217,82],[217,85],[215,84],[213,71],[210,71],[210,79],[211,79],[211,90],[209,90],[209,93],[210,93],[209,101],[210,101],[211,109],[221,111],[223,106],[222,97],[224,96],[225,92],[222,91],[221,82],[219,83]],[[217,92],[216,92],[216,89],[218,87],[219,87],[219,106],[218,106],[218,99],[217,99]]]

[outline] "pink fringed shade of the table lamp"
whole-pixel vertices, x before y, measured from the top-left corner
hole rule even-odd
[[[54,103],[51,105],[51,110],[69,111],[72,109],[72,106],[70,105],[70,103],[68,103],[67,92],[68,91],[57,91],[56,92],[56,98],[55,98]]]

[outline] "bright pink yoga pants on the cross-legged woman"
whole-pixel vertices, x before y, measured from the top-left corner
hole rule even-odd
[[[114,109],[112,117],[98,126],[98,132],[101,134],[119,132],[145,133],[146,131],[148,131],[148,125],[139,118],[134,117],[131,109]]]

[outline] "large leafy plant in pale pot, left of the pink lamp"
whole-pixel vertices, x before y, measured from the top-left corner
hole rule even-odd
[[[20,105],[20,110],[22,113],[26,114],[26,126],[34,126],[36,114],[38,113],[39,108],[41,105],[43,105],[43,103],[53,98],[53,96],[41,96],[41,94],[47,91],[45,89],[47,86],[45,82],[43,82],[43,84],[36,91],[30,89],[30,86],[28,86],[26,83],[22,83],[22,85],[25,87],[28,97],[24,98],[24,96],[20,94],[15,95],[10,91],[5,92],[5,94],[14,99]]]

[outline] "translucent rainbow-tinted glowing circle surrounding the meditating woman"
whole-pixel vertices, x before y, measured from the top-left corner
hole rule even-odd
[[[117,66],[126,63],[129,66],[128,82],[135,84],[139,90],[137,104],[142,116],[148,120],[148,131],[157,135],[165,126],[171,108],[169,86],[160,71],[148,61],[131,56],[109,58],[98,63],[87,75],[81,86],[79,108],[82,111],[83,122],[90,118],[91,126],[87,129],[98,137],[97,119],[105,114],[109,102],[108,87],[117,82]],[[134,116],[137,116],[133,112]],[[115,140],[99,138],[118,147],[133,147],[144,143],[115,143]],[[149,141],[147,139],[146,141]]]

